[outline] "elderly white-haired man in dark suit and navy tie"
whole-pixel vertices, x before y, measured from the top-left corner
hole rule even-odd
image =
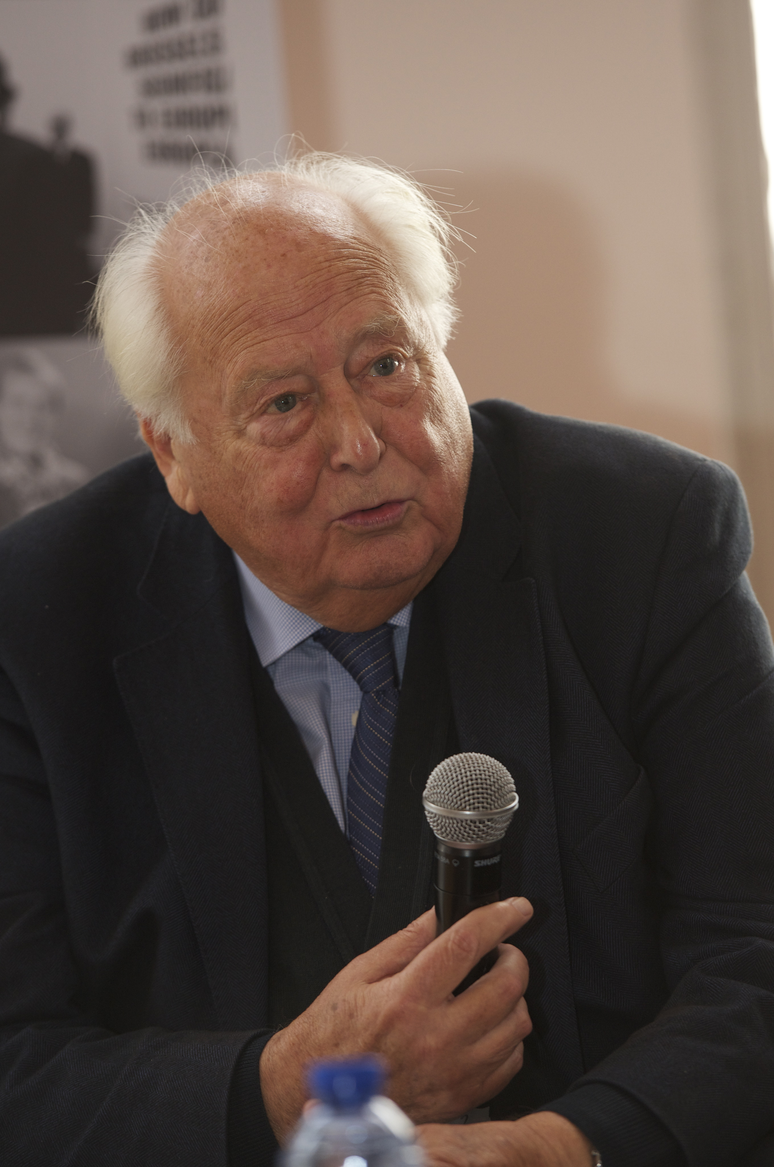
[[[153,460],[0,539],[3,1163],[268,1163],[305,1063],[359,1050],[430,1162],[731,1167],[774,1125],[741,492],[469,412],[446,231],[311,155],[103,274]],[[521,796],[507,897],[435,938],[421,792],[469,749]]]

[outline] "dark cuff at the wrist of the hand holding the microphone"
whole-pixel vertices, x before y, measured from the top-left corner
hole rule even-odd
[[[273,1163],[279,1142],[269,1123],[261,1095],[258,1063],[274,1030],[256,1034],[242,1047],[228,1092],[228,1167],[258,1167]]]

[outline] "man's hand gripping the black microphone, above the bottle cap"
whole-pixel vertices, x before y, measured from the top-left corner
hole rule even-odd
[[[435,913],[427,911],[343,969],[261,1056],[263,1104],[277,1138],[298,1119],[304,1068],[317,1057],[381,1054],[389,1096],[418,1123],[453,1118],[498,1093],[521,1069],[532,1030],[527,960],[500,942],[532,914],[525,899],[502,900],[435,938]],[[494,967],[453,997],[495,945]]]

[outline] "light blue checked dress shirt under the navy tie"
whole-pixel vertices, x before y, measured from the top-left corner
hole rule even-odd
[[[319,784],[346,833],[346,775],[363,693],[344,665],[312,641],[323,626],[291,608],[256,579],[234,553],[247,629],[309,752]],[[399,682],[408,647],[411,605],[396,612],[393,647]]]

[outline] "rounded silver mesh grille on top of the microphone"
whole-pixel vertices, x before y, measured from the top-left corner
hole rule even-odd
[[[501,810],[514,799],[516,805]],[[444,759],[428,778],[422,801],[432,833],[446,843],[469,847],[501,839],[519,804],[509,773],[488,754],[453,754]],[[428,803],[437,809],[430,810]],[[444,809],[450,813],[444,815]],[[494,813],[491,818],[457,818],[455,811]]]

